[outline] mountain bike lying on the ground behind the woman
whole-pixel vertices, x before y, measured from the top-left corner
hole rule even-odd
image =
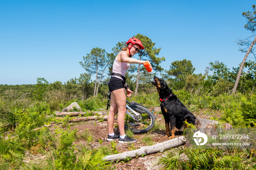
[[[110,93],[108,98],[107,110],[110,101]],[[135,134],[141,134],[148,132],[153,128],[155,124],[155,119],[153,113],[150,112],[146,107],[126,100],[126,114],[125,114],[125,124],[126,129],[131,130]]]

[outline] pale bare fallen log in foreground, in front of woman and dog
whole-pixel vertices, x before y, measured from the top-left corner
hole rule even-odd
[[[185,144],[184,136],[180,136],[178,138],[167,140],[165,142],[157,143],[157,144],[154,144],[151,146],[142,147],[137,150],[123,152],[121,154],[108,155],[108,156],[103,157],[103,160],[113,161],[113,162],[116,162],[118,160],[121,161],[121,160],[123,160],[125,158],[129,158],[129,157],[135,158],[135,157],[140,157],[143,154],[149,155],[149,154],[154,154],[157,152],[163,152],[167,149],[174,148],[174,147],[180,146],[182,144]]]

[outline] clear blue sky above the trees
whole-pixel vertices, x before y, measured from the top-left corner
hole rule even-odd
[[[67,82],[84,69],[79,62],[94,47],[108,53],[133,35],[148,36],[161,66],[187,59],[195,74],[210,62],[238,67],[245,53],[237,38],[245,30],[242,12],[252,11],[252,0],[1,0],[0,84]]]

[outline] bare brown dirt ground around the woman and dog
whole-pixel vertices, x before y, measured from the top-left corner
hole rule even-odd
[[[166,130],[165,130],[165,121],[163,119],[163,115],[161,114],[160,107],[154,107],[149,108],[149,110],[154,109],[155,115],[157,116],[157,119],[155,120],[158,124],[162,125],[162,129],[154,132],[149,132],[149,134],[135,134],[133,137],[138,139],[137,142],[132,144],[121,144],[116,141],[116,149],[119,153],[136,150],[139,149],[142,146],[148,146],[147,143],[143,142],[143,138],[145,136],[151,136],[153,143],[161,143],[169,140],[166,137]],[[202,111],[198,113],[193,113],[197,118],[205,118],[208,119],[210,116],[206,113],[202,113]],[[88,129],[91,135],[93,135],[93,140],[90,142],[90,145],[92,148],[102,147],[102,146],[108,146],[112,149],[111,142],[106,141],[107,135],[108,135],[108,123],[107,121],[83,121],[78,123],[71,123],[71,130],[77,129],[78,133],[82,133],[85,130]],[[115,134],[119,134],[118,129],[114,129]],[[176,138],[178,136],[181,136],[182,133],[180,131],[177,131],[175,134]],[[74,144],[85,144],[88,143],[85,140],[79,140],[75,141]],[[129,162],[120,161],[117,163],[113,163],[113,167],[115,166],[115,169],[117,170],[157,170],[161,169],[161,165],[158,165],[158,158],[163,157],[165,152],[162,153],[155,153],[151,155],[146,155],[144,157],[139,158],[133,158]]]

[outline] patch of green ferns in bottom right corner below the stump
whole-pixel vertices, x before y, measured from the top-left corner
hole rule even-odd
[[[159,159],[162,169],[250,169],[255,170],[256,160],[253,150],[214,150],[174,148]]]

